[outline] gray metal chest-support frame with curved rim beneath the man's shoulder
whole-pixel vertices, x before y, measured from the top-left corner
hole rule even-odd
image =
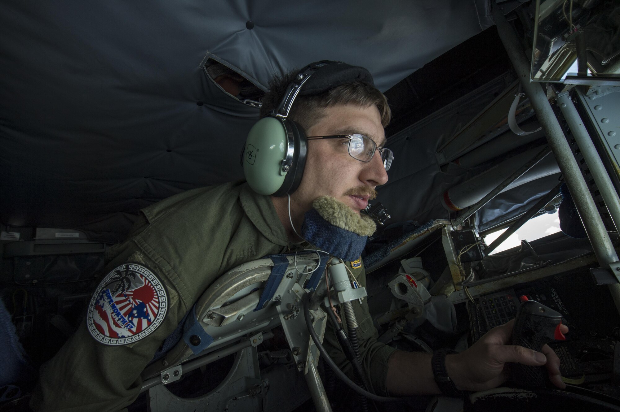
[[[301,285],[311,277],[312,269],[317,266],[317,254],[304,252],[296,256],[290,255],[287,259],[289,264],[285,275],[273,297],[266,301],[259,311],[254,311],[254,308],[259,302],[264,283],[270,277],[273,267],[271,259],[253,260],[232,268],[202,294],[195,305],[195,314],[201,327],[214,341],[206,350],[195,355],[187,343],[181,340],[161,361],[145,369],[142,375],[147,379],[144,380],[142,390],[149,390],[151,410],[266,410],[267,384],[261,380],[260,370],[255,362],[255,347],[262,343],[263,335],[265,339],[273,336],[266,331],[282,325],[286,340],[291,346],[294,365],[306,379],[317,410],[330,411],[327,395],[316,369],[319,352],[309,338],[306,322],[300,314],[301,301],[307,293]],[[322,259],[327,257],[322,256]],[[324,273],[319,275],[324,277]],[[313,326],[322,339],[327,315],[322,309],[311,313],[314,318]],[[229,345],[239,338],[241,342]],[[237,360],[229,376],[202,397],[184,399],[176,397],[165,388],[170,382],[179,380],[184,373],[232,353],[237,353]],[[274,393],[270,395],[272,398],[281,395]],[[262,402],[258,399],[261,397]],[[237,402],[238,405],[232,405],[231,402]]]

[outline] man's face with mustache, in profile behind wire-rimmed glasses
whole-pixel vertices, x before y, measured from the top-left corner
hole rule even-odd
[[[337,134],[366,135],[377,147],[385,144],[381,115],[376,106],[337,105],[325,109],[325,116],[306,130],[308,136]],[[356,212],[368,205],[374,188],[387,182],[387,173],[376,151],[370,162],[348,154],[348,139],[308,140],[308,158],[299,189],[291,195],[291,207],[307,212],[321,195],[329,195]],[[293,206],[294,205],[294,206]]]

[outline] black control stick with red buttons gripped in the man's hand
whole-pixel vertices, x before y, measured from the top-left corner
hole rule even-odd
[[[541,303],[528,300],[525,296],[521,296],[521,300],[524,302],[516,314],[512,345],[540,352],[546,343],[566,339],[560,332],[562,315]],[[544,366],[513,364],[510,371],[510,380],[521,387],[544,388],[550,384],[549,374]]]

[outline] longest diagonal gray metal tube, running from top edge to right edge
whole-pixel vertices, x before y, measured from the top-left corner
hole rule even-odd
[[[560,166],[564,181],[570,189],[570,194],[577,207],[577,212],[579,212],[579,216],[582,219],[583,226],[595,251],[596,258],[601,266],[608,268],[609,265],[618,262],[618,255],[611,244],[611,239],[609,239],[609,235],[603,225],[603,220],[598,214],[598,210],[596,210],[596,205],[586,186],[577,161],[573,157],[569,142],[567,142],[564,137],[564,132],[562,132],[562,128],[557,122],[556,114],[553,112],[547,100],[547,95],[542,90],[541,85],[529,82],[529,60],[525,56],[525,52],[523,51],[523,47],[521,47],[515,31],[510,24],[508,24],[508,20],[504,17],[502,9],[497,6],[497,4],[493,7],[492,17],[495,25],[497,25],[497,32],[502,40],[503,46],[508,53],[508,58],[510,58],[510,61],[515,67],[516,74],[523,85],[525,94],[529,98],[534,113],[536,113],[536,118],[538,118],[542,130],[544,130],[547,136],[549,147],[551,147],[556,157],[557,165]],[[614,276],[618,278],[618,272],[614,272]],[[616,308],[620,312],[620,284],[609,285],[609,291],[616,303]]]

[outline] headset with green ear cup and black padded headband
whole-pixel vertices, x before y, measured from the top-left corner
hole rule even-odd
[[[311,77],[312,81],[308,82]],[[355,81],[374,86],[366,69],[340,61],[314,62],[298,72],[286,88],[280,105],[254,124],[247,135],[241,163],[252,190],[280,197],[293,194],[301,183],[308,155],[306,131],[288,119],[301,88],[306,85],[302,95],[318,95]]]

